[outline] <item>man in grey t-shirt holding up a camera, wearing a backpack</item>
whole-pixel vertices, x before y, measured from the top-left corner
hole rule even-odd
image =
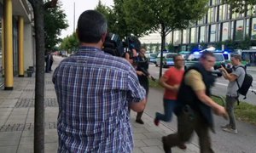
[[[224,126],[222,126],[222,129],[225,132],[229,133],[237,133],[236,129],[236,116],[234,113],[234,105],[236,104],[238,100],[239,94],[237,93],[238,85],[237,82],[241,84],[245,77],[245,71],[241,67],[241,55],[240,54],[234,54],[231,58],[231,65],[233,67],[230,69],[230,71],[227,71],[223,66],[219,69],[223,72],[223,77],[226,80],[229,80],[228,88],[227,88],[227,94],[226,94],[226,110],[228,111],[230,122]],[[236,82],[237,81],[237,82]]]

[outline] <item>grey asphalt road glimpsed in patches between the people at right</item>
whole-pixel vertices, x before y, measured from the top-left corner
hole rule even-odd
[[[149,73],[155,77],[155,78],[159,78],[159,70],[160,67],[156,67],[155,65],[149,65]],[[164,72],[166,71],[166,68],[163,68],[162,71],[164,74]],[[253,104],[256,105],[256,94],[254,94],[252,91],[256,91],[256,67],[248,67],[247,73],[251,74],[253,76],[253,87],[250,88],[248,94],[247,94],[247,99],[243,99],[244,96],[240,97],[241,101],[245,101],[249,104]],[[227,86],[228,86],[228,81],[224,79],[224,77],[219,77],[217,79],[217,82],[215,83],[215,87],[212,88],[212,94],[215,95],[221,95],[224,96],[226,94],[227,91]]]

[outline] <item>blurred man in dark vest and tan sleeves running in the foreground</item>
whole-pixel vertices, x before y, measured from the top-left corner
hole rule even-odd
[[[227,117],[224,107],[210,97],[210,89],[215,82],[211,72],[215,61],[212,52],[204,51],[200,63],[185,71],[177,94],[177,102],[181,104],[175,110],[177,133],[162,137],[166,153],[171,153],[173,146],[189,141],[194,131],[199,137],[200,152],[213,152],[209,135],[209,129],[214,132],[212,111],[218,116]]]

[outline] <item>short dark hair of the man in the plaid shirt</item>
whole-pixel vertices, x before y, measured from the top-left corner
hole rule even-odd
[[[107,20],[96,10],[86,10],[79,16],[78,37],[80,42],[96,43],[107,33]]]

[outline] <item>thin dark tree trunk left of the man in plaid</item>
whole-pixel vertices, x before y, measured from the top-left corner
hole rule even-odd
[[[44,10],[54,8],[57,1],[28,0],[33,8],[36,38],[34,152],[37,153],[44,153]]]

